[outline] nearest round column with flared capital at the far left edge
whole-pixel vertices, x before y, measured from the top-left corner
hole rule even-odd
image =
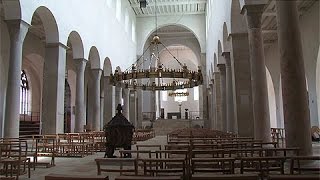
[[[10,35],[10,59],[3,136],[5,138],[17,138],[19,137],[20,122],[22,49],[30,25],[21,20],[7,21],[7,25]]]

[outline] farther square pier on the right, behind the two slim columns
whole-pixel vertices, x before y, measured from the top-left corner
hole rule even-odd
[[[220,83],[220,73],[214,72],[213,73],[213,79],[214,79],[214,99],[215,99],[215,129],[222,131],[222,119],[221,119],[221,107],[222,107],[222,101],[221,101],[221,83]]]

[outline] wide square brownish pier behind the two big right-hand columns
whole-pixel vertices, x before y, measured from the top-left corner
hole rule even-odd
[[[252,86],[247,33],[230,35],[234,118],[240,136],[254,137]]]

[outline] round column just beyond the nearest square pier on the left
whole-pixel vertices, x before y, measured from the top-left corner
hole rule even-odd
[[[76,107],[75,107],[75,132],[83,132],[83,126],[86,124],[85,100],[84,100],[84,70],[86,68],[86,59],[75,59],[76,66]]]

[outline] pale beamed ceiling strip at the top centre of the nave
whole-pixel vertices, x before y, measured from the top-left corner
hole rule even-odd
[[[140,8],[140,0],[128,1],[137,17],[204,14],[207,4],[207,0],[147,0],[147,7]]]

